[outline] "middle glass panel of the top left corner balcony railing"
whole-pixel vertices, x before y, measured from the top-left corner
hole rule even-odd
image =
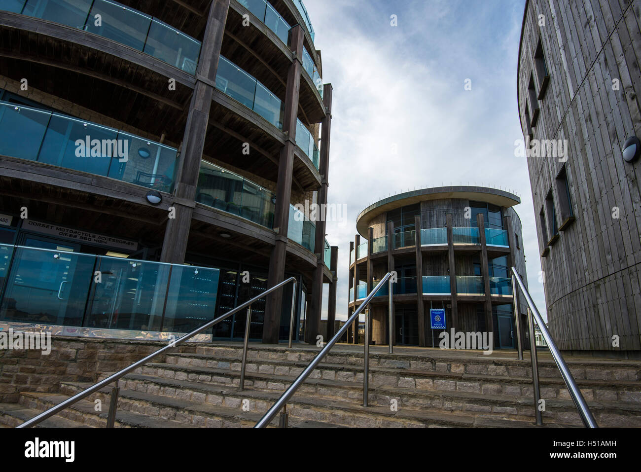
[[[96,15],[101,16],[98,26],[96,26]],[[149,15],[118,3],[96,0],[88,15],[85,30],[143,51],[149,26],[151,26]]]

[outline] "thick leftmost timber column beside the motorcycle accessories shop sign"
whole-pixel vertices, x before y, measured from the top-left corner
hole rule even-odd
[[[198,175],[228,10],[229,0],[213,0],[209,9],[200,60],[196,69],[196,85],[187,114],[181,167],[172,203],[172,206],[176,208],[176,218],[167,220],[165,239],[160,255],[161,262],[172,264],[185,262],[192,214],[196,208]]]

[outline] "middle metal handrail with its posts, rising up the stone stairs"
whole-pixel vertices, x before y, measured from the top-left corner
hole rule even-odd
[[[326,346],[324,348],[322,348],[322,350],[320,350],[318,355],[315,358],[313,358],[312,362],[310,362],[310,365],[307,366],[304,369],[304,371],[301,372],[301,374],[296,377],[296,380],[294,380],[294,382],[292,382],[292,385],[290,385],[287,388],[287,390],[285,392],[283,392],[283,394],[280,396],[280,398],[278,398],[278,400],[276,400],[276,403],[274,403],[274,405],[272,405],[272,407],[269,410],[267,410],[267,413],[265,413],[265,416],[263,416],[260,419],[260,421],[258,421],[258,423],[256,423],[256,425],[254,425],[254,428],[265,428],[265,426],[267,426],[267,425],[269,425],[269,423],[271,423],[272,419],[274,419],[274,416],[276,416],[276,414],[278,414],[278,410],[280,410],[281,408],[283,409],[283,414],[281,414],[280,425],[281,426],[283,426],[283,424],[287,425],[287,413],[286,413],[286,411],[287,411],[287,401],[292,397],[292,395],[294,395],[294,393],[297,391],[298,387],[300,387],[301,384],[303,384],[303,382],[306,380],[306,378],[308,378],[308,376],[310,376],[310,374],[312,373],[313,369],[315,369],[315,367],[318,364],[320,364],[320,361],[325,357],[325,355],[328,353],[328,351],[331,350],[331,348],[333,348],[334,344],[336,344],[337,341],[345,334],[345,332],[347,332],[347,329],[349,328],[349,326],[351,326],[352,323],[354,323],[354,321],[358,321],[358,316],[360,316],[361,312],[367,307],[367,305],[369,305],[369,302],[372,300],[372,298],[374,298],[374,296],[376,295],[376,292],[378,292],[379,289],[381,287],[383,287],[385,282],[387,282],[388,279],[391,276],[392,276],[391,272],[388,272],[387,274],[385,274],[385,276],[381,279],[381,282],[379,282],[378,285],[376,285],[376,287],[374,287],[374,290],[372,290],[372,292],[370,292],[370,294],[367,296],[367,298],[365,298],[363,303],[361,303],[360,307],[358,307],[356,309],[356,311],[352,314],[352,316],[350,316],[347,319],[345,324],[340,328],[340,330],[338,330],[338,332],[334,335],[334,337],[331,339],[331,341],[329,341],[326,344]],[[392,290],[391,289],[392,289],[392,287],[390,287],[390,292],[389,292],[389,296],[390,297],[392,296]],[[366,323],[367,323],[367,327],[369,328],[369,323],[367,322],[367,317],[369,317],[369,313],[366,315],[366,318],[365,318],[366,319]],[[356,329],[356,326],[354,326],[354,329]],[[365,333],[365,335],[367,336],[367,332]],[[390,339],[390,344],[391,344],[391,342],[392,342],[392,340]],[[367,354],[368,354],[368,351],[366,349],[365,350],[365,357],[367,357]],[[367,368],[367,366],[368,366],[367,358],[363,359],[363,364],[364,364],[365,368]],[[365,407],[367,406],[367,378],[368,378],[368,376],[369,375],[368,375],[367,371],[364,371],[363,372],[363,397],[364,397],[363,398],[363,403],[364,403],[363,406],[365,406]],[[285,417],[285,421],[283,421],[283,419],[282,419],[283,416]]]

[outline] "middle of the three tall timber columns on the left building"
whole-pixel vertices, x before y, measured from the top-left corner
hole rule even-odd
[[[269,276],[267,285],[273,287],[285,279],[285,255],[287,253],[287,230],[289,224],[289,205],[292,196],[292,174],[294,173],[294,149],[296,149],[296,118],[298,116],[298,95],[301,86],[303,67],[303,29],[297,24],[290,30],[290,48],[294,52],[294,61],[287,73],[287,90],[285,91],[285,114],[283,116],[283,133],[285,146],[281,149],[278,160],[278,183],[276,184],[276,208],[274,212],[274,230],[276,244],[269,258]],[[278,344],[283,291],[277,290],[267,296],[265,303],[265,323],[263,325],[263,343]],[[309,332],[309,330],[307,330]]]

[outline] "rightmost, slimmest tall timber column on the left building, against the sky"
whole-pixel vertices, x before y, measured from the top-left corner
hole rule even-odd
[[[316,222],[316,236],[314,243],[314,252],[317,254],[317,266],[314,270],[312,282],[312,298],[310,298],[310,308],[308,310],[307,322],[309,329],[306,330],[310,344],[316,344],[316,336],[319,332],[320,313],[322,303],[322,278],[323,266],[325,265],[325,230],[327,217],[327,190],[329,187],[329,137],[331,135],[331,84],[326,83],[323,89],[323,104],[325,106],[325,117],[322,121],[320,131],[320,188],[318,194],[318,204],[322,209],[320,221]]]

